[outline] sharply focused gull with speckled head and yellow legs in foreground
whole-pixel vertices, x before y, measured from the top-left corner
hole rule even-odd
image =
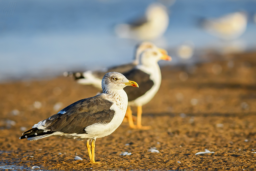
[[[98,163],[95,162],[95,140],[108,136],[122,123],[128,104],[127,94],[123,90],[126,86],[139,87],[119,72],[108,72],[102,79],[103,93],[65,107],[35,124],[19,139],[33,141],[50,136],[87,139],[89,163]]]

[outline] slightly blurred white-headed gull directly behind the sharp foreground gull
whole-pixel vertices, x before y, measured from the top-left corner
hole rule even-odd
[[[161,70],[158,65],[159,60],[171,61],[171,57],[162,51],[153,48],[146,49],[141,53],[140,64],[137,65],[132,70],[124,73],[127,79],[136,79],[142,88],[138,88],[134,91],[125,88],[128,96],[128,107],[126,111],[126,116],[128,117],[128,122],[130,128],[133,129],[150,129],[150,126],[141,125],[141,114],[142,106],[147,104],[155,94],[161,85]],[[130,106],[137,107],[137,125],[134,125],[132,119],[132,110]]]

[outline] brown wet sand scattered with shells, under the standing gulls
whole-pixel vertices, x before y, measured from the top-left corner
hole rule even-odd
[[[35,123],[94,96],[96,88],[61,76],[2,83],[0,163],[44,170],[255,170],[256,53],[218,58],[190,67],[162,67],[160,90],[143,106],[142,124],[152,129],[133,130],[123,122],[97,139],[98,165],[87,164],[85,141],[19,140]],[[153,147],[160,153],[148,152]],[[195,155],[205,149],[215,153]],[[131,155],[120,155],[125,151]],[[76,155],[83,161],[74,160]]]

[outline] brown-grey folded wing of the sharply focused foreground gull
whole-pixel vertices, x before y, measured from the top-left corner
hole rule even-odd
[[[85,128],[94,123],[109,123],[115,114],[110,110],[112,102],[104,99],[101,94],[79,100],[61,111],[65,114],[54,114],[46,119],[46,129],[64,133],[86,133]]]

